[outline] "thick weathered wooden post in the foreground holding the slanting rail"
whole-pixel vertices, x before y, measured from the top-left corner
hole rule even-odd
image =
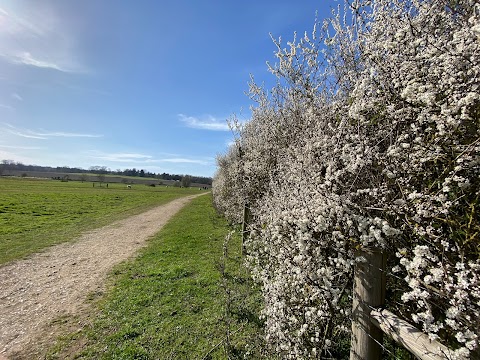
[[[385,303],[386,255],[379,249],[364,249],[356,257],[365,261],[355,267],[350,360],[380,360],[383,333],[372,323],[370,312]]]

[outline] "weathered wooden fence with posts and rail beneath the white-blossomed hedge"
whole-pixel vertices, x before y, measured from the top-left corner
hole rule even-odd
[[[242,225],[242,253],[249,235],[252,215],[245,204]],[[380,250],[359,251],[355,268],[350,360],[380,360],[383,334],[400,343],[421,360],[450,359],[452,351],[388,310],[382,310],[386,291],[386,255]]]

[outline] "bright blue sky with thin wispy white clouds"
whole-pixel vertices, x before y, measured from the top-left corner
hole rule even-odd
[[[0,159],[213,176],[292,39],[334,0],[0,0]]]

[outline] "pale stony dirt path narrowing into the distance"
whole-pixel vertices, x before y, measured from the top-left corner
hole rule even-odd
[[[55,320],[85,310],[107,273],[131,257],[188,196],[0,267],[0,360],[32,358],[55,339]],[[27,355],[28,354],[28,355]],[[3,358],[3,359],[2,359]]]

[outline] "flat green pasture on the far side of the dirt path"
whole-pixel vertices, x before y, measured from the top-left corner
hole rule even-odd
[[[196,188],[0,178],[0,264],[137,214]]]

